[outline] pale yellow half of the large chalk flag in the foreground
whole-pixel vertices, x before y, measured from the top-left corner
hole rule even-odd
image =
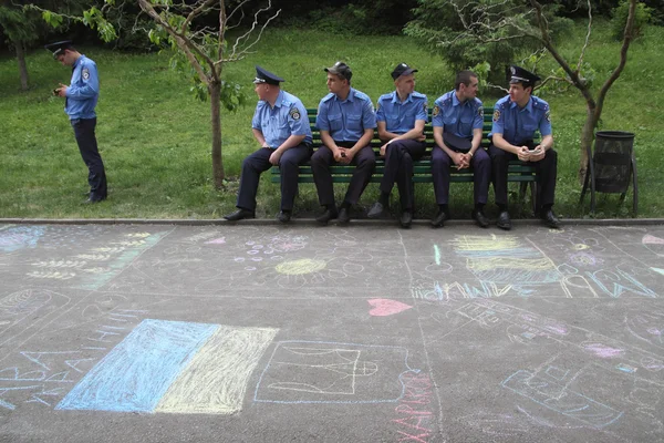
[[[155,412],[240,411],[251,373],[277,332],[272,328],[220,326],[168,388]]]

